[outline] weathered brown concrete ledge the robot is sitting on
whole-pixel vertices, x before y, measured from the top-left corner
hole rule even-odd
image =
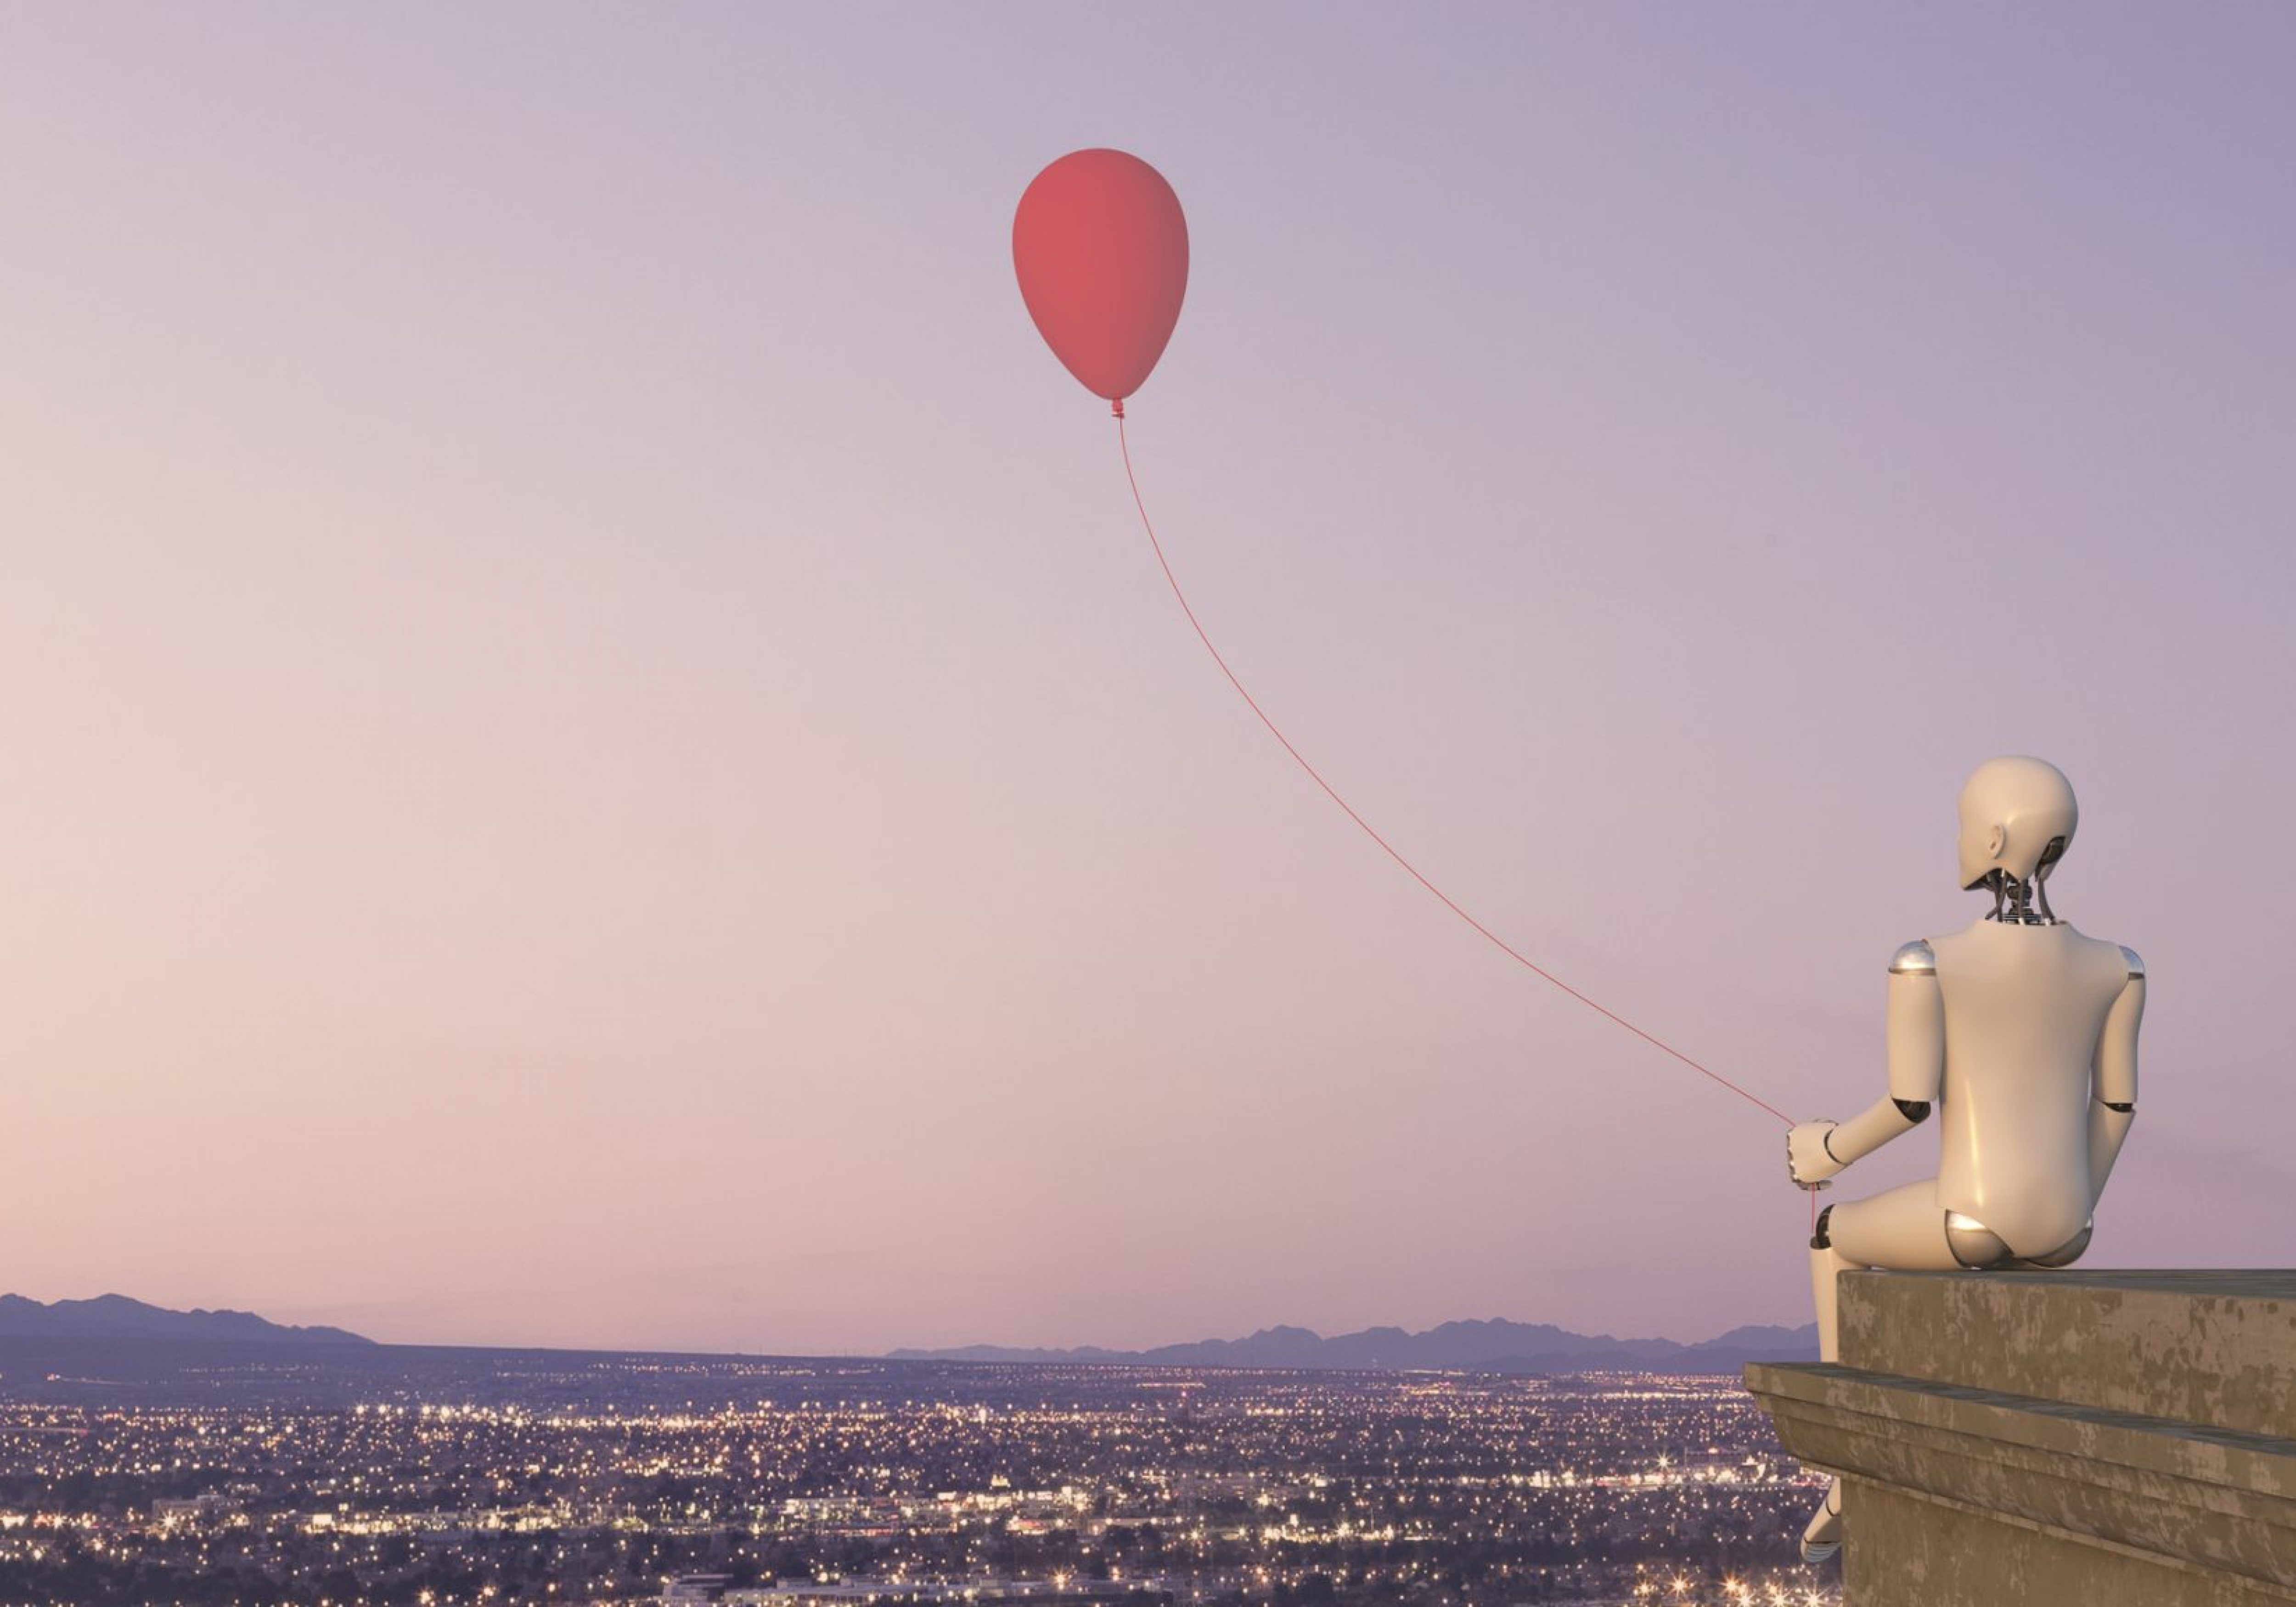
[[[1853,1272],[1841,1366],[1747,1384],[1846,1607],[2296,1602],[2296,1272]]]

